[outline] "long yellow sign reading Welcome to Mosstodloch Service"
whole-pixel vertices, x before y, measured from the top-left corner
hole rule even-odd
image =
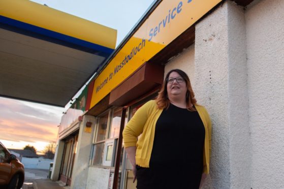
[[[90,107],[221,1],[162,1],[96,78]]]

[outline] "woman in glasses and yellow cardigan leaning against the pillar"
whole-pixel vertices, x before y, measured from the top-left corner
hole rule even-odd
[[[128,122],[123,140],[138,189],[199,188],[209,173],[210,117],[181,70],[166,75],[157,99]]]

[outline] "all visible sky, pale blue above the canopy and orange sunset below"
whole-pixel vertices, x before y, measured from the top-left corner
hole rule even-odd
[[[118,46],[154,0],[32,1],[117,29]],[[49,142],[56,141],[57,125],[66,110],[0,97],[0,141],[7,148],[22,149],[29,144],[42,151]]]

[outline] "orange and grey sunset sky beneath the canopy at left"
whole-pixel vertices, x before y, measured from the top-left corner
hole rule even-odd
[[[55,142],[64,108],[0,97],[0,141],[7,148],[29,144],[42,151]]]

